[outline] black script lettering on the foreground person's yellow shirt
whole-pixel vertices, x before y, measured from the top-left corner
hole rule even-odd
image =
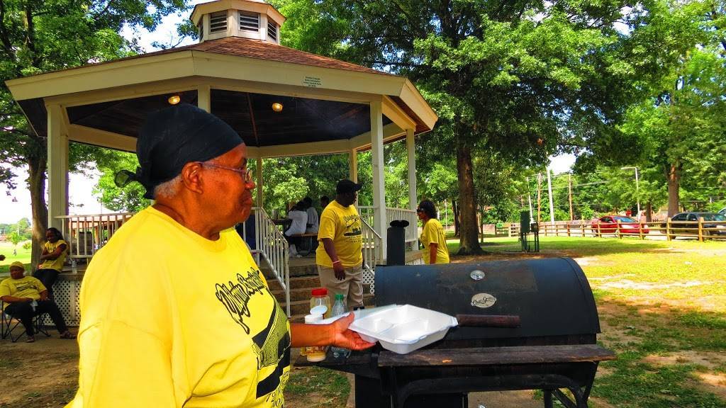
[[[250,317],[248,303],[255,293],[262,293],[262,290],[269,290],[260,279],[260,274],[255,269],[250,269],[247,277],[237,274],[237,283],[216,284],[217,299],[227,308],[229,315],[234,322],[242,326],[247,334],[250,334],[250,327],[245,324],[245,317]],[[270,293],[272,295],[272,293]]]

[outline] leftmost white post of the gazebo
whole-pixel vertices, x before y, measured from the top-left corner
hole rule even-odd
[[[48,227],[62,230],[68,208],[68,136],[62,134],[63,113],[60,105],[46,106],[48,111]]]

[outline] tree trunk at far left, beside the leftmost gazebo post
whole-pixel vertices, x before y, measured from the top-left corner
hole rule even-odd
[[[48,207],[45,200],[46,154],[28,157],[28,189],[30,189],[30,206],[33,213],[33,249],[30,253],[30,264],[35,269],[41,256],[41,245],[45,241],[48,228]]]

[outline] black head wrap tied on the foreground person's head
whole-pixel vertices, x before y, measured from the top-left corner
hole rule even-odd
[[[139,131],[136,173],[119,171],[115,183],[138,181],[151,199],[156,186],[181,174],[185,164],[211,160],[240,143],[240,135],[211,113],[188,104],[167,107],[150,114]]]

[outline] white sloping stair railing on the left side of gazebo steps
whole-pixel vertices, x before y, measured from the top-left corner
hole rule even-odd
[[[272,274],[285,290],[285,311],[290,317],[290,245],[285,235],[264,211],[255,207],[255,246],[254,253],[269,264]]]

